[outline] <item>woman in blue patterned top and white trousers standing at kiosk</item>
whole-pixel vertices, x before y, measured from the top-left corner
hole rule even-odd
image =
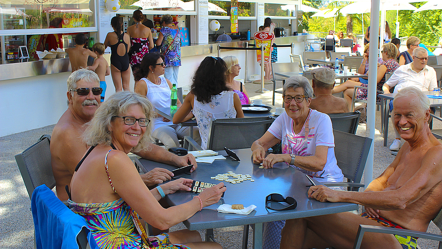
[[[160,22],[163,27],[160,29],[156,44],[161,45],[161,51],[164,54],[166,64],[164,77],[178,85],[178,70],[181,66],[181,35],[177,26],[173,24],[173,20],[170,14],[161,17]]]

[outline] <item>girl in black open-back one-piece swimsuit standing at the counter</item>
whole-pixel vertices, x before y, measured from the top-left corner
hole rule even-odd
[[[114,16],[110,19],[110,25],[114,32],[109,32],[104,40],[104,46],[110,47],[110,75],[112,76],[115,91],[129,90],[129,56],[130,37],[123,32],[123,19]]]

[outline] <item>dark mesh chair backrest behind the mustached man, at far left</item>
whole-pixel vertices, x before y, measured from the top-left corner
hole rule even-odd
[[[32,197],[34,189],[42,184],[48,186],[49,189],[55,187],[55,178],[51,165],[50,141],[50,135],[43,135],[38,142],[20,154],[15,155],[15,161],[20,169],[29,198]]]

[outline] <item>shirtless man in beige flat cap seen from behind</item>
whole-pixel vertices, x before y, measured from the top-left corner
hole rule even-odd
[[[312,99],[310,108],[321,113],[348,113],[347,101],[332,95],[335,86],[335,71],[320,67],[311,71],[312,87],[316,98]]]

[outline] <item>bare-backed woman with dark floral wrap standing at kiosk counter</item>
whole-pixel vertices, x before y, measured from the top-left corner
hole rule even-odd
[[[144,15],[141,10],[134,11],[135,24],[127,28],[130,37],[129,62],[132,73],[140,66],[145,54],[154,47],[151,29],[143,25]]]

